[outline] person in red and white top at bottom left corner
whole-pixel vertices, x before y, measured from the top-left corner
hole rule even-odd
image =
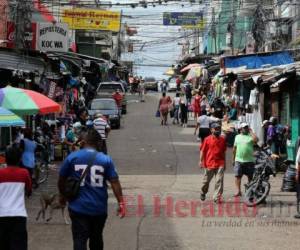
[[[6,150],[7,167],[0,169],[0,249],[27,250],[25,195],[32,191],[29,172],[21,168],[18,147]]]

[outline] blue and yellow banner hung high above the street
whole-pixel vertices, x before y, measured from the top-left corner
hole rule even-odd
[[[163,25],[185,28],[204,28],[202,12],[164,12]]]

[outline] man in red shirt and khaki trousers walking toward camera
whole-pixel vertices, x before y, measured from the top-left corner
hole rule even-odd
[[[223,194],[226,141],[221,136],[221,125],[219,123],[211,124],[211,133],[200,146],[199,165],[205,171],[200,199],[205,200],[210,181],[215,176],[216,184],[213,199],[216,203],[219,203],[222,201]]]

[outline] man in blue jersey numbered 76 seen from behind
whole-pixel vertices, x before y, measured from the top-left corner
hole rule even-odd
[[[119,203],[119,216],[125,216],[122,188],[118,174],[110,156],[100,151],[101,136],[95,129],[84,134],[85,147],[70,154],[64,161],[59,172],[58,188],[64,193],[68,177],[80,178],[90,161],[94,163],[82,181],[78,197],[69,202],[72,220],[74,250],[86,250],[89,240],[90,250],[103,249],[102,232],[107,218],[107,186],[111,183],[112,190]]]

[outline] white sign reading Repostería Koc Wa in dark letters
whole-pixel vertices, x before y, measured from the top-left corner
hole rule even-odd
[[[39,23],[37,49],[40,51],[67,52],[69,30],[66,23]]]

